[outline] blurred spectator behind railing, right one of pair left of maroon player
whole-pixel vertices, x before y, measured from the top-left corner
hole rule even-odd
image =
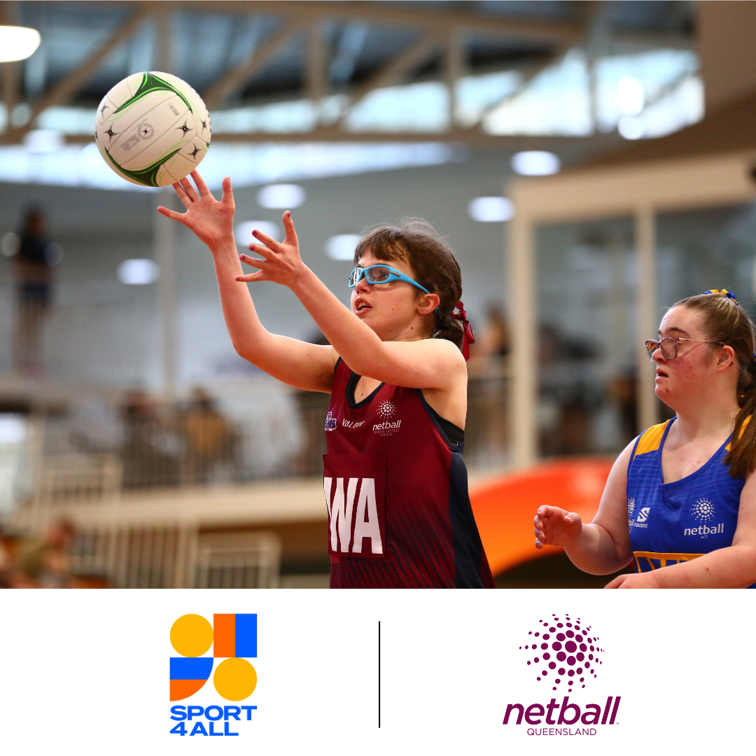
[[[181,417],[186,436],[186,476],[190,482],[205,483],[217,464],[233,463],[238,435],[215,407],[205,389],[197,386]]]

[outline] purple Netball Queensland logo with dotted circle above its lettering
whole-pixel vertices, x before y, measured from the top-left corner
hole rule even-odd
[[[539,619],[517,653],[531,680],[553,697],[507,704],[503,724],[525,723],[528,735],[591,736],[596,726],[617,723],[621,696],[607,696],[601,703],[584,700],[596,695],[594,683],[604,662],[600,638],[587,622],[566,614]]]

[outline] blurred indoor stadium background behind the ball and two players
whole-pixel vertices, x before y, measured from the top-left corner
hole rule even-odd
[[[590,516],[605,460],[666,416],[642,348],[665,306],[754,311],[754,5],[0,2],[0,586],[327,586],[329,397],[235,354],[206,249],[155,212],[175,198],[93,143],[104,93],[150,69],[205,99],[240,249],[291,209],[346,302],[366,228],[448,237],[498,584],[585,584],[528,512]],[[322,342],[290,292],[253,294]],[[518,488],[553,464],[561,488]]]

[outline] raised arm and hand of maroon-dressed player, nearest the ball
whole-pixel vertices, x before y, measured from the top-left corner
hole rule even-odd
[[[231,179],[223,180],[223,199],[212,197],[197,171],[197,189],[188,178],[173,184],[187,212],[159,207],[158,212],[191,228],[209,247],[215,262],[218,292],[228,335],[237,353],[274,378],[299,389],[330,392],[338,359],[333,347],[277,336],[263,327],[246,283],[234,240],[234,194]]]

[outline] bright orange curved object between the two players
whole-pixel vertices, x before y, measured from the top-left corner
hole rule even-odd
[[[560,549],[536,549],[533,518],[541,505],[577,512],[590,522],[613,460],[582,459],[550,462],[513,472],[470,491],[491,572],[498,575],[522,562]]]

